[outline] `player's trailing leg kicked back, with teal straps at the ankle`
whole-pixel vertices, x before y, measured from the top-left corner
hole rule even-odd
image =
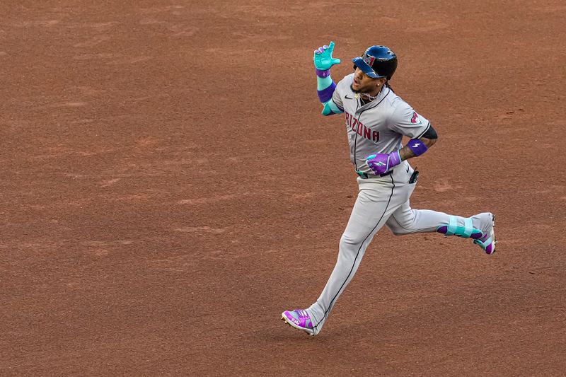
[[[412,209],[407,201],[393,212],[386,225],[396,235],[438,232],[445,236],[472,238],[485,253],[495,252],[495,216],[491,212],[470,217],[455,216],[429,209]]]

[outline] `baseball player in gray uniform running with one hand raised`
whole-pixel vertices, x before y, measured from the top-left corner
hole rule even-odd
[[[410,207],[418,172],[408,160],[427,153],[438,136],[430,122],[389,85],[398,62],[393,51],[385,46],[369,47],[362,57],[352,59],[354,72],[336,84],[330,68],[340,59],[333,58],[333,50],[334,42],[330,42],[314,52],[318,98],[323,115],[343,114],[359,193],[322,294],[309,308],[282,313],[282,320],[309,335],[320,332],[366,248],[384,225],[398,236],[438,232],[470,238],[485,253],[495,252],[492,213],[462,217]],[[405,146],[403,136],[410,139]]]

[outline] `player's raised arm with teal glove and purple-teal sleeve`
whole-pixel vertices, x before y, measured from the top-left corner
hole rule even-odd
[[[337,98],[338,96],[334,93],[336,83],[333,81],[332,77],[330,77],[330,67],[335,64],[340,64],[340,59],[332,57],[333,51],[334,42],[330,42],[330,45],[324,45],[323,47],[318,47],[318,50],[314,50],[313,61],[316,69],[316,93],[318,94],[318,100],[323,104],[323,115],[333,115],[344,112],[342,104],[336,103],[335,100],[333,100],[333,97]]]

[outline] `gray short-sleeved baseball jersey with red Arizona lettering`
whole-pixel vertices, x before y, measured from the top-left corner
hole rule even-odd
[[[337,83],[333,101],[344,110],[354,168],[371,174],[366,156],[400,149],[403,136],[419,139],[429,129],[430,122],[387,86],[383,86],[375,100],[364,105],[352,91],[353,81],[354,74],[349,74]]]

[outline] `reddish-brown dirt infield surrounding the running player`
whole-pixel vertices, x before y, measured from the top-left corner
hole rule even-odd
[[[563,375],[563,1],[91,4],[0,4],[0,375]],[[330,40],[336,81],[398,54],[412,206],[499,243],[383,228],[307,337],[357,195]]]

